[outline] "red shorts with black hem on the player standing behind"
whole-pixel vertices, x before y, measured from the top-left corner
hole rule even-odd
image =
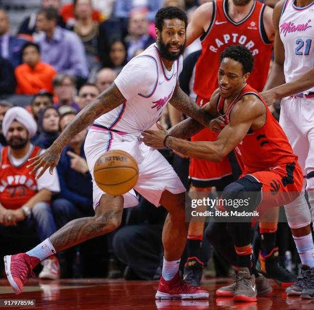
[[[197,104],[205,105],[209,100],[202,99],[198,96]],[[201,130],[199,133],[191,137],[191,141],[216,141],[217,133],[214,133],[209,128]],[[217,183],[229,184],[232,182],[232,169],[228,157],[225,157],[222,162],[215,163],[202,159],[190,159],[189,178],[192,185],[195,187],[216,186]]]

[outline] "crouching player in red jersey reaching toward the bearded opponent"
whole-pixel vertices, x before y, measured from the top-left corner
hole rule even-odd
[[[151,147],[164,145],[185,156],[212,162],[221,162],[231,150],[236,149],[244,171],[239,180],[225,187],[222,196],[223,199],[243,198],[248,192],[263,191],[256,203],[247,207],[250,210],[261,209],[266,203],[280,206],[293,201],[301,192],[303,183],[298,157],[293,154],[285,133],[259,93],[246,83],[252,68],[253,56],[244,46],[229,46],[221,53],[219,88],[204,106],[212,117],[221,116],[226,123],[216,141],[183,140],[203,128],[192,119],[179,123],[169,132],[143,132],[145,144]],[[276,183],[276,191],[273,191],[272,183]],[[244,207],[241,210],[248,209]],[[256,301],[255,277],[250,270],[251,223],[227,225],[237,251],[238,272],[233,300]]]

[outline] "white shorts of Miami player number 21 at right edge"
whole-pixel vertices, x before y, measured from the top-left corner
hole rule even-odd
[[[282,99],[279,124],[306,177],[314,170],[314,98]]]

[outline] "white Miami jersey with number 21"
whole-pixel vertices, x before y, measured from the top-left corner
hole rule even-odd
[[[299,8],[293,0],[286,0],[279,31],[285,48],[285,78],[290,82],[314,65],[314,1]],[[314,87],[305,93],[312,91]]]

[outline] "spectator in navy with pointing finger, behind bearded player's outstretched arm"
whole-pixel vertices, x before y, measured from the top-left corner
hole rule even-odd
[[[60,119],[61,131],[73,120],[74,113],[68,112]],[[60,180],[59,198],[52,203],[54,218],[58,227],[71,220],[93,216],[93,191],[91,175],[84,153],[87,131],[76,134],[61,153],[57,165]]]

